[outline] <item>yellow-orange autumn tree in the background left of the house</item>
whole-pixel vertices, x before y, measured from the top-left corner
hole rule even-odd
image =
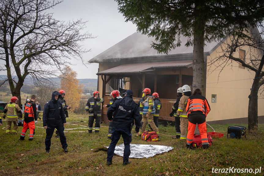
[[[78,85],[79,80],[76,78],[77,73],[73,71],[69,66],[63,69],[61,77],[61,87],[65,94],[65,101],[68,106],[71,106],[71,110],[74,111],[80,105],[80,98],[83,85]]]

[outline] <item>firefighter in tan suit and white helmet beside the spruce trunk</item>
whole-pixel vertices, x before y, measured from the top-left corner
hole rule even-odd
[[[178,110],[176,112],[176,117],[180,117],[180,140],[186,139],[186,129],[188,126],[188,116],[185,110],[187,100],[191,96],[190,86],[182,86],[182,92],[184,95],[180,98]]]

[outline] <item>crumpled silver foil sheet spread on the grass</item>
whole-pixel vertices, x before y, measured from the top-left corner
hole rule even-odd
[[[117,145],[114,154],[124,156],[124,148],[124,144]],[[163,145],[130,144],[131,154],[129,155],[129,158],[149,158],[156,154],[169,152],[172,149],[173,147]]]

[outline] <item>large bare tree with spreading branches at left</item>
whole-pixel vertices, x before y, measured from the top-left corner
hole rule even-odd
[[[57,76],[71,58],[80,59],[86,50],[80,42],[93,38],[82,32],[85,21],[58,21],[47,10],[62,1],[5,0],[0,2],[0,70],[6,71],[13,96],[20,99],[25,77],[38,84]],[[14,79],[16,76],[17,78]],[[17,80],[17,81],[16,81]]]

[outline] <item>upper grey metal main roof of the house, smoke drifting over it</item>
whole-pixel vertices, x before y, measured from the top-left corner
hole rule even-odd
[[[100,62],[112,62],[120,61],[120,59],[129,59],[129,58],[140,58],[140,57],[153,57],[153,56],[169,56],[177,54],[192,54],[193,46],[186,47],[188,38],[180,36],[181,46],[176,47],[168,51],[168,54],[158,53],[154,48],[151,47],[153,42],[156,43],[154,37],[148,37],[141,33],[135,32],[131,36],[123,39],[119,43],[110,47],[106,51],[98,54],[88,62],[90,63],[100,63]],[[204,52],[211,53],[214,51],[215,47],[219,46],[220,41],[205,43]]]

